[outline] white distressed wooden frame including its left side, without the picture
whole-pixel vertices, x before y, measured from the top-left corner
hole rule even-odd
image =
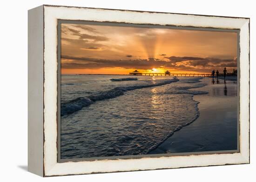
[[[240,30],[240,152],[57,162],[58,19]],[[28,12],[28,170],[40,176],[249,163],[249,19],[66,6]]]

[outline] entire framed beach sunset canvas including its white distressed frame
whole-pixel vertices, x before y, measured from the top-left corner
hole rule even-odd
[[[28,170],[249,163],[249,18],[28,11]]]

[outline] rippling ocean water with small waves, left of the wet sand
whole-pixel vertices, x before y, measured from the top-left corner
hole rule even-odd
[[[61,75],[61,158],[148,154],[198,118],[200,80]]]

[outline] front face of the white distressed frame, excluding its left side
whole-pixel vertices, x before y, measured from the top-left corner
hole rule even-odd
[[[94,8],[43,6],[44,20],[44,176],[168,169],[249,163],[249,19]],[[240,30],[240,152],[141,159],[57,162],[58,19],[172,25]]]

